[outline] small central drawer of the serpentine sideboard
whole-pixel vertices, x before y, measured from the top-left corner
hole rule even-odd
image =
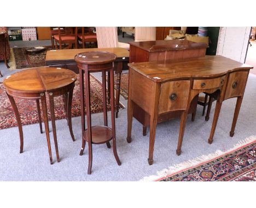
[[[208,79],[194,79],[193,81],[193,89],[213,89],[218,88],[224,84],[224,78],[217,77],[217,78],[208,78]]]

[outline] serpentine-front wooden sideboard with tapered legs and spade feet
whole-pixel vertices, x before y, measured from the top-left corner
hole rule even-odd
[[[217,94],[212,129],[208,143],[212,143],[222,102],[237,97],[230,136],[234,135],[238,113],[252,66],[222,56],[206,56],[165,62],[129,64],[129,98],[127,142],[131,142],[134,106],[150,117],[148,163],[153,164],[156,124],[162,115],[181,112],[178,146],[181,154],[185,123],[190,103],[199,93]]]

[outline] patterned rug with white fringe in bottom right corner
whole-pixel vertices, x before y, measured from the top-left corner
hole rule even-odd
[[[212,159],[208,160],[209,158]],[[195,160],[169,167],[158,172],[158,175],[149,176],[143,180],[256,181],[256,137],[241,141],[228,152],[219,150],[215,154],[201,156]]]

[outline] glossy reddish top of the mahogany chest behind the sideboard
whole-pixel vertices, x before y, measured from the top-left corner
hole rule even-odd
[[[148,52],[185,50],[195,48],[207,48],[204,42],[192,42],[189,40],[154,40],[154,41],[138,41],[129,42],[130,45],[137,46]]]

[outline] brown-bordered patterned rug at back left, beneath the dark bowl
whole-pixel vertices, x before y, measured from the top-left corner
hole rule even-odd
[[[44,46],[44,47],[46,47],[46,50],[37,54],[27,54],[26,49],[30,47],[12,48],[11,56],[13,53],[14,60],[11,59],[11,65],[16,65],[16,69],[46,66],[46,63],[45,63],[46,52],[51,50],[51,46]],[[15,62],[15,64],[12,64],[12,62]]]

